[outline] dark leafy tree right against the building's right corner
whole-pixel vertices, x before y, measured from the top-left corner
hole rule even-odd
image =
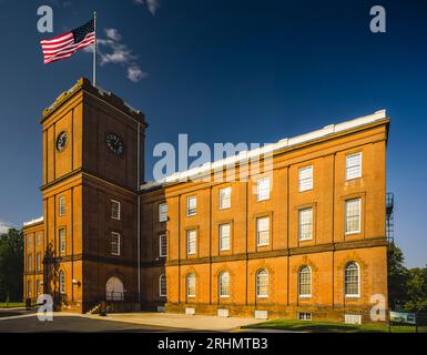
[[[392,310],[395,310],[396,305],[404,305],[408,300],[407,282],[409,272],[405,267],[404,261],[404,253],[392,242],[387,250],[388,303]]]

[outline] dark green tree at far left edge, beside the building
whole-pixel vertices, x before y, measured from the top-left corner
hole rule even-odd
[[[0,301],[22,300],[23,233],[10,229],[0,235]]]

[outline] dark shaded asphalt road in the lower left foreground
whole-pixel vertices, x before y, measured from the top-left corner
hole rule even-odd
[[[124,322],[91,320],[79,316],[54,316],[52,322],[40,322],[35,315],[0,318],[0,333],[72,333],[72,332],[108,332],[108,333],[159,333],[192,332],[153,325],[140,325]],[[193,331],[194,332],[194,331]]]

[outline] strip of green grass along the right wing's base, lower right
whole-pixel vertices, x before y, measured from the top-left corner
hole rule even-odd
[[[344,324],[327,321],[273,320],[245,326],[245,328],[286,329],[308,333],[388,333],[385,324]],[[427,326],[418,327],[419,333],[427,333]],[[394,325],[392,333],[415,333],[415,326]]]

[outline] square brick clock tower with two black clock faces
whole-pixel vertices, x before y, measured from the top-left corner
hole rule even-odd
[[[44,293],[63,311],[138,303],[143,113],[80,79],[41,124]]]

